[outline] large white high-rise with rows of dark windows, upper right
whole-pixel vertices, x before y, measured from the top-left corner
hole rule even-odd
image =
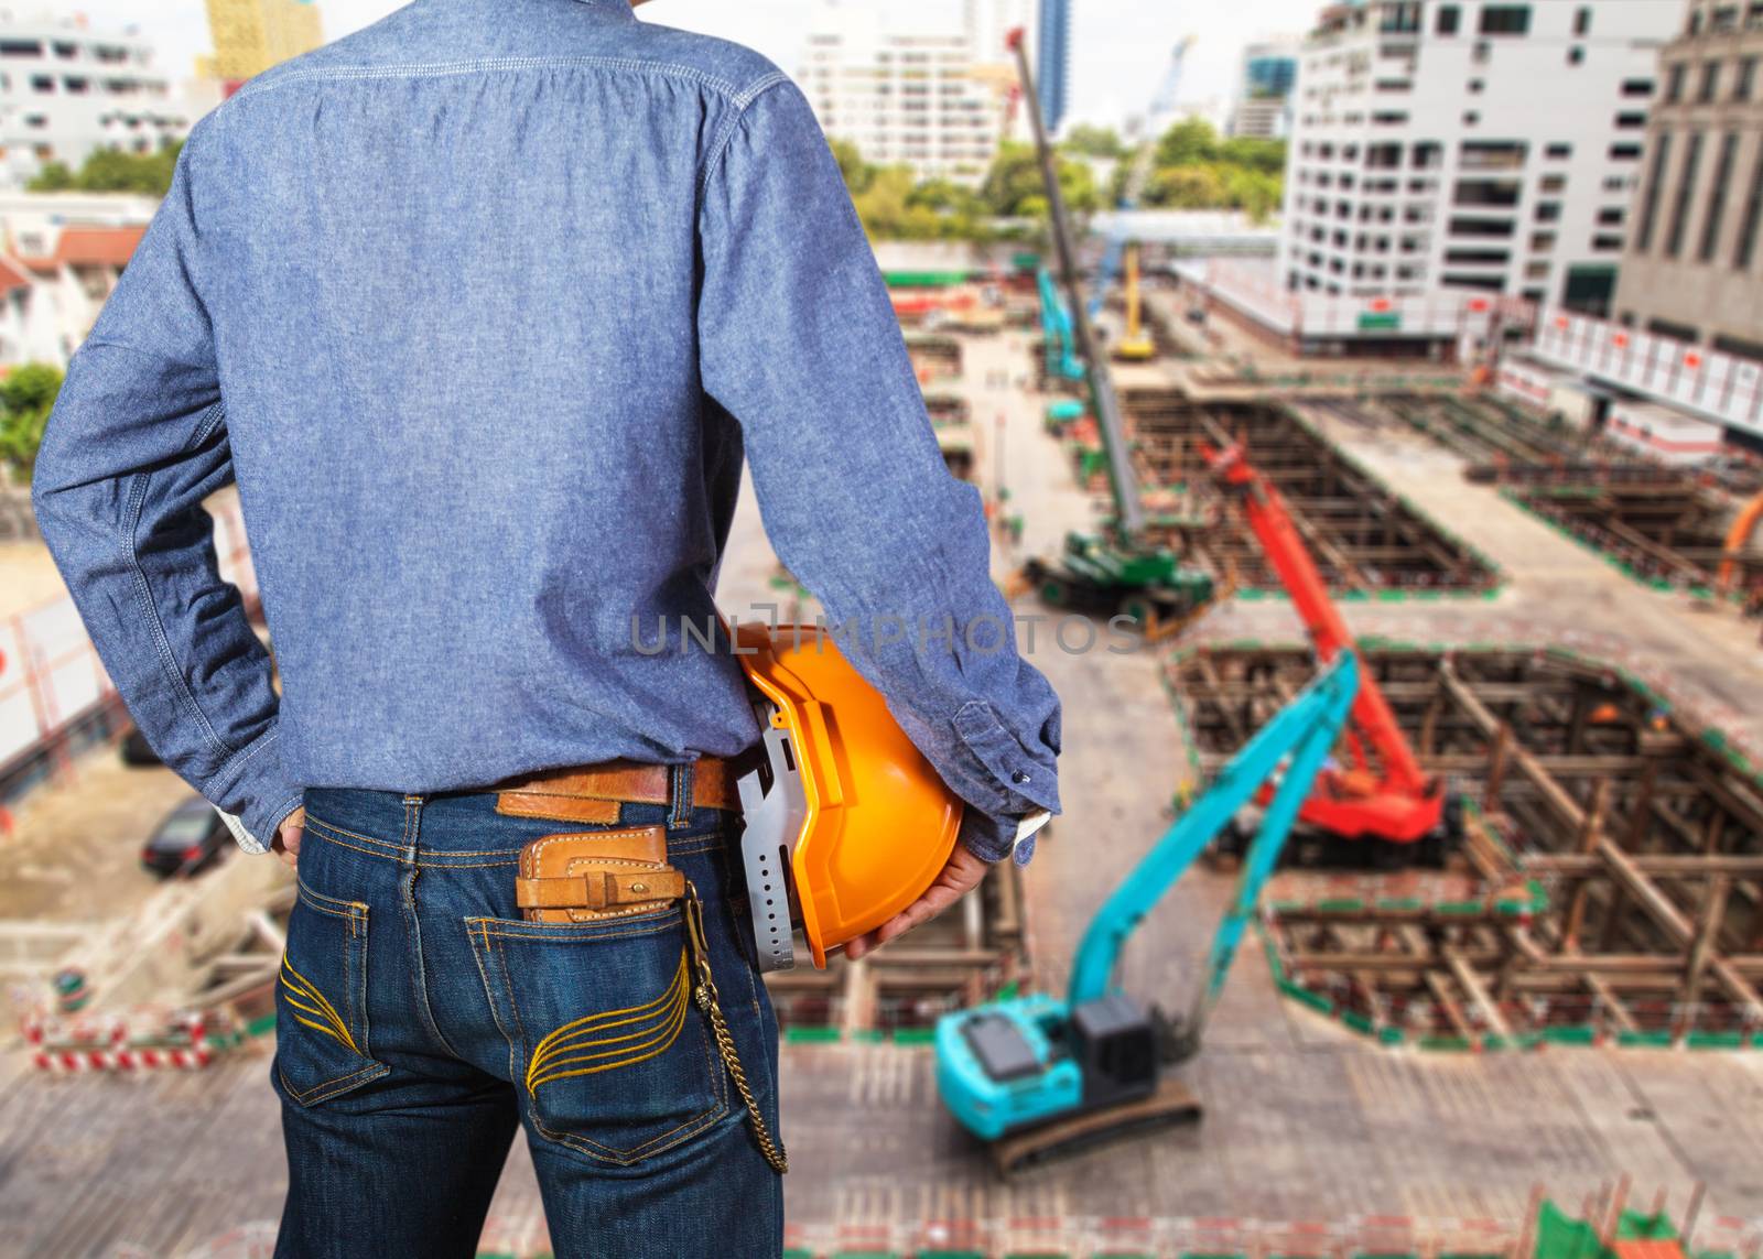
[[[1354,0],[1292,95],[1280,280],[1608,310],[1684,0]]]

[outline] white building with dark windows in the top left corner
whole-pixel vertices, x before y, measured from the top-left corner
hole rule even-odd
[[[141,35],[0,12],[0,187],[23,187],[46,162],[78,169],[99,148],[152,153],[189,129]]]

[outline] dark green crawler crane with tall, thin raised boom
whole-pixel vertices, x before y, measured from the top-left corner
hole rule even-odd
[[[1183,568],[1174,552],[1144,540],[1144,504],[1139,501],[1132,455],[1127,450],[1127,425],[1121,420],[1107,358],[1097,351],[1095,330],[1084,305],[1070,213],[1060,189],[1058,166],[1040,113],[1035,79],[1028,69],[1021,28],[1010,32],[1008,44],[1015,53],[1023,101],[1035,132],[1035,153],[1040,159],[1040,178],[1053,220],[1053,245],[1060,263],[1060,287],[1065,289],[1061,300],[1053,287],[1051,273],[1040,273],[1042,321],[1049,333],[1047,367],[1049,374],[1082,379],[1086,384],[1114,497],[1114,520],[1105,536],[1068,534],[1065,550],[1058,557],[1028,561],[1023,566],[1023,578],[1054,607],[1123,615],[1148,635],[1158,637],[1211,601],[1213,578]],[[1058,351],[1053,349],[1054,337]]]

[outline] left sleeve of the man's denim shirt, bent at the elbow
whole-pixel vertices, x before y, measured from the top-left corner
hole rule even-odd
[[[197,130],[199,134],[199,130]],[[201,503],[233,481],[197,293],[192,136],[164,205],[74,354],[32,476],[56,568],[153,751],[247,852],[300,804],[277,756],[270,656],[222,580]]]

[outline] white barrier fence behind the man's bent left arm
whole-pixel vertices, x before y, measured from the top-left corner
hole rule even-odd
[[[238,497],[208,503],[220,575],[257,607]],[[53,776],[95,714],[120,712],[116,688],[86,637],[72,598],[0,619],[0,802]]]

